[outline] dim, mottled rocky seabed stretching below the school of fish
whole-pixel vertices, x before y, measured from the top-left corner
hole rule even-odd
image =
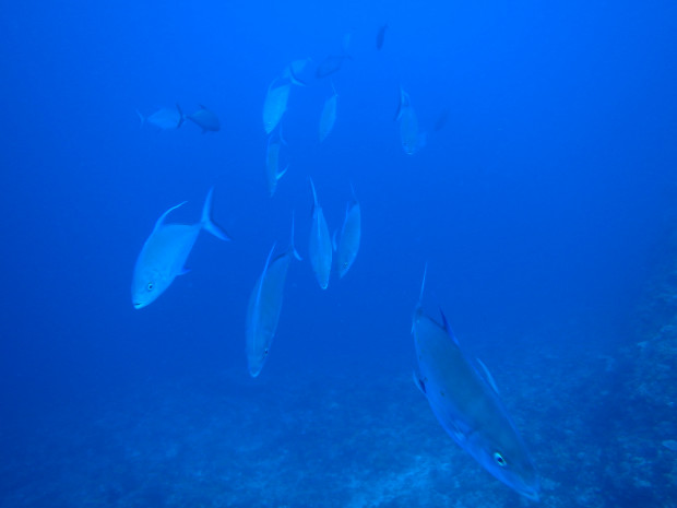
[[[617,357],[518,356],[531,369],[497,381],[541,506],[677,506],[677,327]],[[2,508],[534,505],[456,447],[409,373],[149,379],[0,438]]]

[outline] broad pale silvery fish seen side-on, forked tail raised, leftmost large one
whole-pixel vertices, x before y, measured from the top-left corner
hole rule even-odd
[[[230,235],[212,221],[212,194],[210,189],[202,208],[202,218],[197,224],[166,224],[167,215],[183,205],[186,201],[171,206],[163,213],[151,236],[143,244],[143,248],[134,265],[132,276],[132,305],[136,309],[149,306],[162,295],[174,282],[177,275],[188,273],[185,268],[186,259],[190,255],[198,235],[202,229],[222,240],[230,240]]]

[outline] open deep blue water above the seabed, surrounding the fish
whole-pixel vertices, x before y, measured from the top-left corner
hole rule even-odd
[[[249,292],[274,241],[307,252],[312,176],[330,228],[352,180],[363,245],[321,292],[292,265],[262,376],[370,369],[407,376],[424,263],[444,309],[497,378],[515,344],[573,356],[636,340],[630,317],[674,221],[674,2],[12,2],[0,17],[0,401],[5,424],[149,378],[246,377]],[[385,44],[376,50],[379,26]],[[261,109],[293,59],[353,32],[334,76],[292,90],[292,163],[266,194]],[[428,145],[406,156],[402,85]],[[222,130],[140,129],[204,104]],[[444,129],[431,132],[443,110]],[[202,235],[192,272],[134,310],[134,260],[156,218],[191,223],[215,186],[234,236]],[[514,362],[514,358],[512,358]]]

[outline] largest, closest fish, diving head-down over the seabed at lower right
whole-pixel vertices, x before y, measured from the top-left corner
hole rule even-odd
[[[425,314],[425,282],[424,272],[412,322],[417,388],[462,449],[513,491],[538,500],[538,475],[522,437],[490,382],[466,359],[443,312],[441,323]]]

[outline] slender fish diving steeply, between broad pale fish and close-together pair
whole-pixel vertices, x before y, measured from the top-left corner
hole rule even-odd
[[[247,308],[247,365],[252,378],[261,374],[277,330],[289,264],[294,258],[301,260],[294,248],[294,215],[292,215],[289,247],[275,258],[273,258],[274,251],[275,245],[268,255],[265,267],[251,292]]]

